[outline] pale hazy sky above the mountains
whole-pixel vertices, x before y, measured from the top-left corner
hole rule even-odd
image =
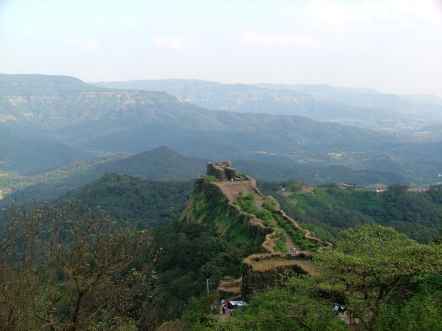
[[[0,0],[0,72],[442,97],[442,0]]]

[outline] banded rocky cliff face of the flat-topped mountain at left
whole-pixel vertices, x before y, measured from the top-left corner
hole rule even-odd
[[[79,92],[58,95],[0,96],[0,120],[59,127],[84,121],[143,117],[142,107],[175,103],[155,92]]]

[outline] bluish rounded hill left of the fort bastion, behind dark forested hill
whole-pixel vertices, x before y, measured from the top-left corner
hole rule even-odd
[[[16,173],[3,173],[0,177],[0,205],[10,199],[51,200],[68,190],[96,181],[106,172],[118,172],[140,179],[160,181],[191,181],[204,172],[206,161],[184,157],[170,148],[130,155],[108,155],[95,161],[75,162],[67,167],[35,176],[23,177]]]

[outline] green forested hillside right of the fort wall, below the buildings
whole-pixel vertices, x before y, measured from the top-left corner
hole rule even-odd
[[[260,186],[278,199],[287,214],[307,228],[320,228],[329,240],[340,230],[363,224],[391,226],[423,243],[438,237],[442,230],[441,185],[428,192],[407,192],[405,187],[394,185],[382,194],[340,189],[333,184],[307,187],[294,181]]]

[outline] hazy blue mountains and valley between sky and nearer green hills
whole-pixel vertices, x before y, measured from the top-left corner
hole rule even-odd
[[[330,86],[299,86],[302,92],[293,92],[295,86],[276,90],[278,86],[264,84],[191,80],[88,84],[74,77],[27,74],[1,74],[0,81],[0,134],[8,146],[0,156],[3,196],[41,181],[48,185],[48,179],[61,174],[63,181],[73,174],[83,178],[66,185],[55,180],[51,185],[59,189],[48,197],[56,197],[106,171],[130,168],[115,168],[115,159],[161,146],[200,158],[192,161],[198,164],[195,171],[142,177],[192,179],[204,172],[206,161],[232,159],[244,165],[240,170],[267,180],[419,186],[439,179],[442,106],[436,103]],[[340,101],[332,100],[337,96]],[[355,106],[352,97],[375,106]],[[367,112],[373,114],[365,120]],[[343,117],[353,125],[343,124]],[[129,159],[138,168],[146,164]],[[77,165],[71,165],[74,161]],[[170,161],[163,169],[173,173],[182,165]],[[97,166],[103,170],[90,170]],[[35,192],[33,197],[25,194],[31,199],[39,195],[29,192]]]

